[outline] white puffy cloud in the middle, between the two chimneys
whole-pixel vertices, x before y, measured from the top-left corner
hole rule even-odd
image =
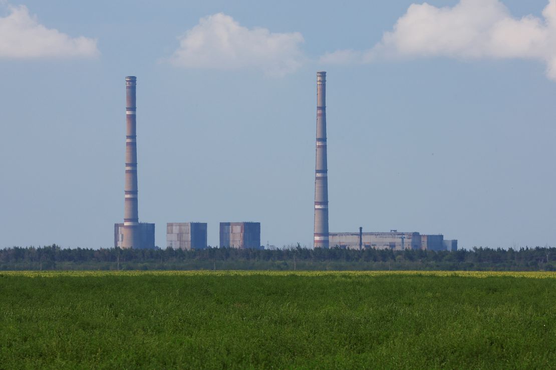
[[[283,76],[305,61],[301,33],[271,33],[266,28],[246,28],[226,14],[201,18],[180,40],[170,62],[177,67],[256,68]]]

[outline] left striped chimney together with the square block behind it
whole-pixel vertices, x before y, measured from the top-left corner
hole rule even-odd
[[[155,248],[155,224],[140,223],[137,188],[137,77],[126,77],[126,181],[123,224],[114,224],[114,246],[120,248]]]

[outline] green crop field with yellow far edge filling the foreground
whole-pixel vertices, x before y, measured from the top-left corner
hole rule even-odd
[[[0,368],[550,368],[556,273],[0,272]]]

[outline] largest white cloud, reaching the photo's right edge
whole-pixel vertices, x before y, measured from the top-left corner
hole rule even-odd
[[[460,0],[454,7],[411,4],[374,48],[336,51],[321,62],[368,63],[379,57],[523,58],[542,61],[556,80],[556,0],[543,17],[513,17],[499,0]]]

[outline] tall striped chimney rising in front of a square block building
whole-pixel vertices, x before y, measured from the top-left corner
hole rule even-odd
[[[137,78],[126,77],[126,184],[122,248],[141,247],[137,212],[137,132],[135,87]]]

